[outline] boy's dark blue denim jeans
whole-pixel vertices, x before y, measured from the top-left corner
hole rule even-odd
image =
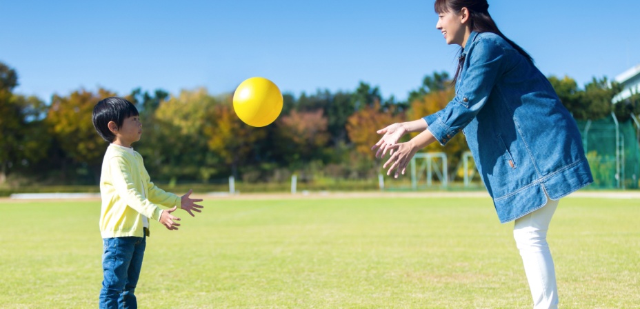
[[[100,308],[138,308],[134,291],[142,268],[146,237],[103,239]]]

